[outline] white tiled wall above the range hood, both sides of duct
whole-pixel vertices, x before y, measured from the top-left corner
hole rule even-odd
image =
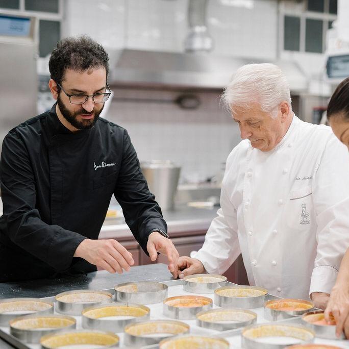
[[[210,0],[213,54],[275,58],[276,0]],[[88,34],[106,47],[183,52],[188,0],[69,0],[63,35]]]

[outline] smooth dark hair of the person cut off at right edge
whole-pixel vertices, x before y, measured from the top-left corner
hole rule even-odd
[[[327,118],[341,115],[349,120],[349,78],[344,79],[333,92],[327,107]]]

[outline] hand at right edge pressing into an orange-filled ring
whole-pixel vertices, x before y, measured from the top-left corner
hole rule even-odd
[[[336,320],[336,336],[339,337],[344,329],[345,337],[349,338],[349,290],[347,287],[333,287],[325,310],[326,321],[330,321],[331,315]]]

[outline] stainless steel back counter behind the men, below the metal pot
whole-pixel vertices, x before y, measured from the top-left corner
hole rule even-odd
[[[195,208],[188,206],[176,207],[174,211],[164,211],[163,216],[168,226],[168,233],[207,230],[216,217],[218,207]],[[106,218],[99,239],[130,236],[132,233],[123,218]]]

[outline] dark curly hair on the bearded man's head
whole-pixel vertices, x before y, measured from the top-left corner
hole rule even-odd
[[[51,79],[62,84],[65,70],[85,71],[105,67],[109,73],[108,54],[101,44],[87,35],[65,38],[57,43],[48,62]]]

